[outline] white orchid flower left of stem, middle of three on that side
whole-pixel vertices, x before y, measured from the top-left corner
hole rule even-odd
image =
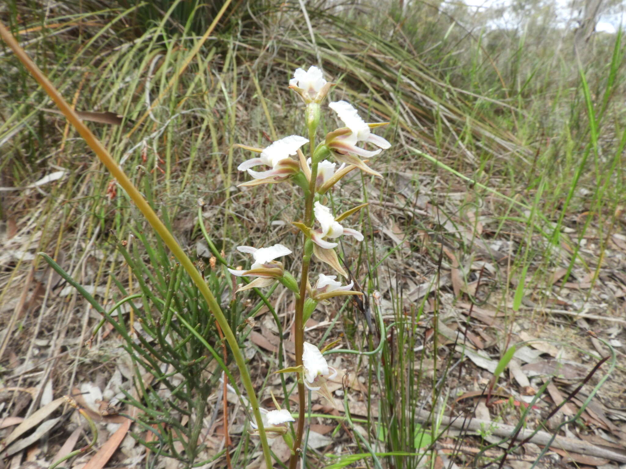
[[[269,248],[253,248],[252,246],[237,246],[237,251],[241,253],[249,253],[254,257],[254,264],[249,270],[228,269],[232,275],[237,277],[258,277],[251,281],[248,285],[239,288],[239,291],[248,290],[249,288],[261,288],[269,286],[284,274],[282,262],[275,261],[275,258],[291,254],[289,248],[283,245],[274,245]]]

